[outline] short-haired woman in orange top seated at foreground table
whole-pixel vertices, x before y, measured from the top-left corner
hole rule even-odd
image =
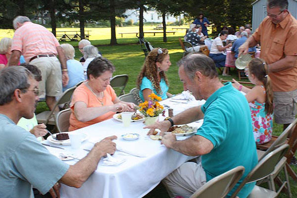
[[[103,57],[89,64],[88,80],[72,96],[69,131],[110,119],[115,112],[134,111],[135,104],[118,99],[109,85],[114,71],[114,65]]]

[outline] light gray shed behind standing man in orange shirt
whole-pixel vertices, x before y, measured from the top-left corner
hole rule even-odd
[[[288,0],[288,10],[297,18],[297,0]],[[262,20],[267,16],[266,7],[267,7],[267,0],[256,0],[252,4],[252,30],[255,31]]]

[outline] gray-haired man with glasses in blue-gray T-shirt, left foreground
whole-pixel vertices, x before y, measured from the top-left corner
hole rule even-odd
[[[16,126],[21,117],[30,119],[38,101],[38,82],[25,67],[0,71],[0,198],[33,198],[32,187],[59,197],[61,182],[80,188],[96,170],[100,158],[114,153],[116,136],[97,143],[75,165],[49,153],[34,135]],[[52,190],[53,189],[53,190]]]

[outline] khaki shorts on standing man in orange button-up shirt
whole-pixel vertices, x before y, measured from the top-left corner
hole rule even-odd
[[[297,90],[273,92],[274,120],[278,124],[290,124],[297,113]]]

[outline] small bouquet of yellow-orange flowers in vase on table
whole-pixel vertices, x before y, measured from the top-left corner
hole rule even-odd
[[[139,104],[139,111],[145,116],[145,124],[153,124],[160,113],[163,111],[163,106],[158,102],[160,97],[151,93],[148,95],[149,100]]]

